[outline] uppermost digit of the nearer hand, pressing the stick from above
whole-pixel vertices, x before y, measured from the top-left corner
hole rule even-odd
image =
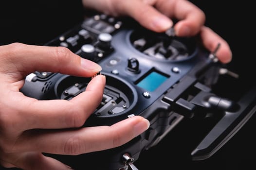
[[[65,47],[34,46],[13,43],[0,47],[5,58],[2,70],[6,73],[20,73],[23,76],[34,71],[60,72],[76,76],[90,77],[101,70],[101,67],[81,58]],[[13,67],[13,65],[15,67]]]

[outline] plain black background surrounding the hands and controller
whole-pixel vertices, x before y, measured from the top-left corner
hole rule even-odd
[[[236,85],[223,93],[243,93],[255,82],[255,9],[249,0],[191,0],[206,14],[206,26],[223,37],[233,51],[228,68],[240,75]],[[80,0],[15,0],[0,2],[0,45],[11,42],[43,45],[83,18]],[[225,86],[225,84],[223,85]],[[256,169],[256,116],[216,154],[203,161],[191,161],[200,125],[189,123],[174,129],[157,146],[135,162],[139,170]],[[201,128],[201,129],[200,129]],[[175,137],[174,137],[175,136]]]

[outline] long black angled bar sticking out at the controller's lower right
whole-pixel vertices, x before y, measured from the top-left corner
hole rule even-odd
[[[237,103],[236,111],[225,111],[224,116],[192,151],[192,160],[207,159],[216,153],[256,112],[256,88],[252,88]]]

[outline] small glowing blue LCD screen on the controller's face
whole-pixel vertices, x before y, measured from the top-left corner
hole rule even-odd
[[[155,89],[157,89],[157,87],[162,85],[167,78],[167,76],[153,71],[148,74],[143,80],[141,80],[137,85],[148,91],[154,91]]]

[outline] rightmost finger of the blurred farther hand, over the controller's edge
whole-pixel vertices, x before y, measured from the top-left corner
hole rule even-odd
[[[208,27],[202,27],[201,29],[201,41],[206,49],[213,52],[220,43],[220,48],[216,53],[219,61],[222,63],[229,63],[232,60],[232,51],[228,43],[221,38],[218,34],[212,31]]]

